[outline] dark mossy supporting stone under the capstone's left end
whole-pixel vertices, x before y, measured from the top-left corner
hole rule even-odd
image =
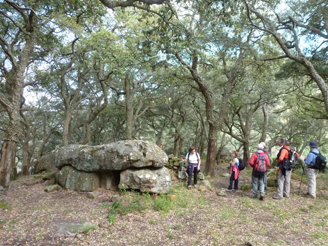
[[[74,191],[94,191],[100,187],[100,174],[65,166],[55,175],[59,185]]]

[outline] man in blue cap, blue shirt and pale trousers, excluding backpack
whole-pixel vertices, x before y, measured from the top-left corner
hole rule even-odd
[[[308,193],[306,193],[305,196],[309,198],[316,198],[316,177],[319,170],[315,169],[317,156],[314,153],[320,153],[317,148],[317,142],[310,142],[310,153],[304,158],[308,168],[306,171],[308,176]]]

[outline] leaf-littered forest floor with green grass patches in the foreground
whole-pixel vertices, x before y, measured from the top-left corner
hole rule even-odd
[[[0,203],[0,245],[328,245],[328,175],[317,179],[317,198],[298,195],[274,200],[269,188],[263,201],[249,190],[251,171],[240,175],[243,190],[218,196],[228,187],[225,167],[210,180],[214,191],[188,190],[175,180],[169,194],[101,190],[95,199],[86,192],[45,192],[49,181],[29,176],[12,181]],[[112,202],[112,195],[119,201]],[[109,222],[110,221],[110,222]],[[79,233],[58,236],[70,223],[91,223]]]

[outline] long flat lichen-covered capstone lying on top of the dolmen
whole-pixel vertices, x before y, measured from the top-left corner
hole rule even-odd
[[[125,170],[156,167],[167,164],[167,154],[153,142],[125,140],[108,145],[71,145],[60,148],[55,154],[55,167],[71,165],[86,172]]]

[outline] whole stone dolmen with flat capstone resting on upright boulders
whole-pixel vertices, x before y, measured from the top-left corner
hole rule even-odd
[[[126,140],[101,146],[72,145],[55,154],[56,181],[67,189],[94,191],[98,188],[167,193],[171,176],[168,157],[157,145],[145,140]]]

